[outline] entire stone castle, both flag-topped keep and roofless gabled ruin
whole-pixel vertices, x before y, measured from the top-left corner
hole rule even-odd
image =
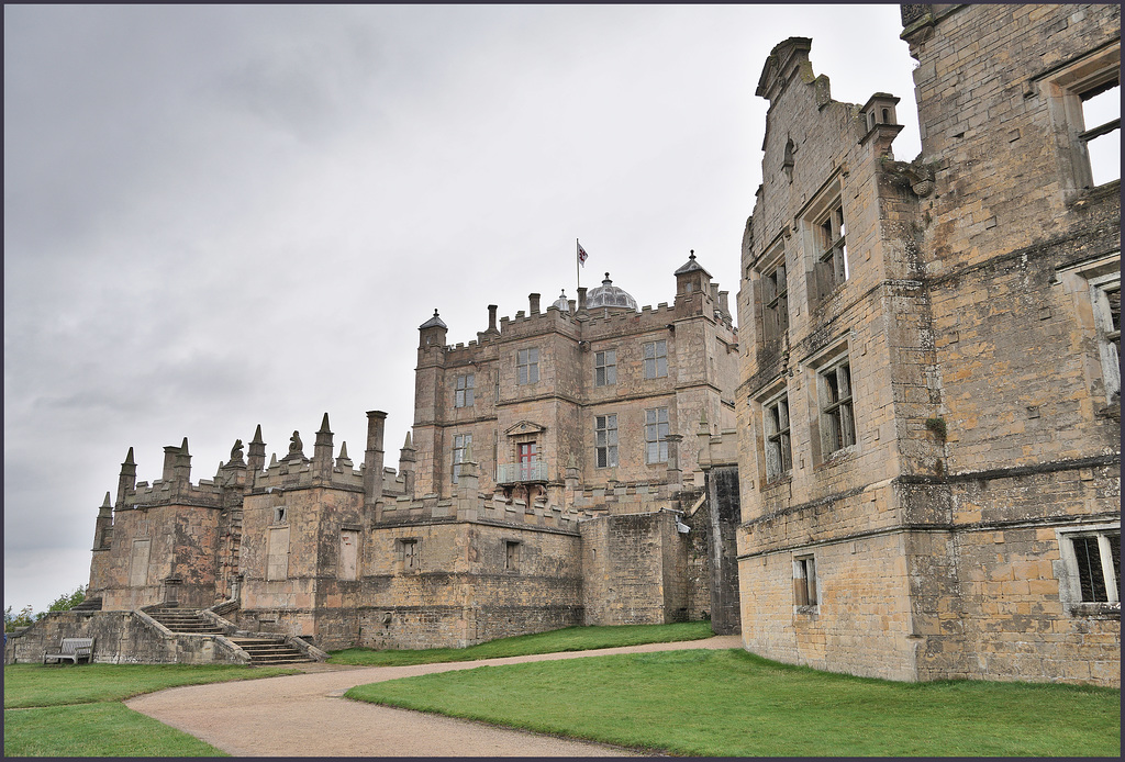
[[[763,183],[738,329],[694,254],[669,305],[606,274],[449,345],[418,329],[397,469],[327,415],[267,464],[256,432],[192,484],[133,452],[101,506],[98,661],[468,645],[711,617],[764,656],[898,680],[1119,686],[1117,6],[902,6],[898,99],[835,101],[794,37],[766,60]],[[1090,117],[1088,118],[1087,114]],[[1119,114],[1119,111],[1118,111]],[[1089,123],[1089,124],[1088,124]],[[214,634],[159,611],[198,610]]]

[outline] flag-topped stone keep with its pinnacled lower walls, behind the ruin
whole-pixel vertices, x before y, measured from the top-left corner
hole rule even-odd
[[[418,332],[413,436],[397,470],[384,466],[379,411],[368,412],[359,469],[346,447],[333,455],[326,414],[310,457],[294,432],[267,465],[259,428],[245,456],[236,442],[198,484],[187,439],[165,448],[152,484],[136,481],[129,450],[94,530],[88,596],[102,610],[52,618],[12,657],[68,627],[109,628],[96,661],[222,651],[222,637],[177,638],[141,611],[166,602],[218,607],[227,631],[325,650],[705,618],[718,525],[696,437],[680,444],[701,419],[732,425],[737,339],[726,292],[694,254],[675,279],[675,303],[656,309],[608,276],[590,305],[583,289],[540,312],[532,294],[530,315],[498,328],[492,308],[468,346],[448,346],[434,315]],[[111,635],[122,611],[153,625],[158,645]]]

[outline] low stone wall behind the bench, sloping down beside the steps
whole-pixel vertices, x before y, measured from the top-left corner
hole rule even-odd
[[[8,635],[6,664],[42,663],[65,637],[92,637],[91,661],[102,664],[241,664],[234,652],[205,635],[168,635],[133,611],[53,611]],[[65,662],[64,662],[65,663]]]

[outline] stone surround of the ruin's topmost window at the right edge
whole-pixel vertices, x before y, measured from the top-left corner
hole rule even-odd
[[[1030,78],[1025,97],[1038,89],[1046,100],[1047,111],[1055,131],[1059,147],[1059,169],[1063,181],[1064,197],[1076,201],[1084,191],[1094,187],[1087,143],[1099,137],[1087,130],[1082,102],[1091,94],[1119,83],[1120,39],[1116,39],[1095,51],[1052,67]],[[1119,125],[1119,123],[1118,123]],[[1119,129],[1119,126],[1118,126]]]

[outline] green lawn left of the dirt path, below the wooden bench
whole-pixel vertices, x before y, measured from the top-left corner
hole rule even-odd
[[[226,756],[120,701],[177,686],[295,672],[235,665],[8,665],[3,668],[4,756]]]

